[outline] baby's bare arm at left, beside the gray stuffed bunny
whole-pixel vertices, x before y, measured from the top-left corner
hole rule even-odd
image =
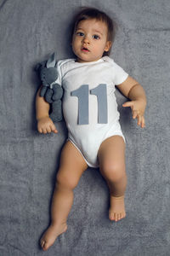
[[[36,97],[36,117],[37,117],[37,131],[40,133],[50,133],[53,131],[57,133],[57,129],[52,119],[49,118],[49,103],[40,96],[40,89],[37,91]]]

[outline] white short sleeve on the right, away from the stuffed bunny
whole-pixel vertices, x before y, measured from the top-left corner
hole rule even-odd
[[[116,64],[115,61],[113,61],[113,68],[114,68],[114,84],[119,85],[124,82],[128,74],[120,67],[119,65]]]

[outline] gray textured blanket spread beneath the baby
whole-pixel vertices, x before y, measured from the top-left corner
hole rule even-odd
[[[42,255],[59,154],[67,131],[40,135],[33,67],[54,51],[72,57],[68,43],[77,6],[94,6],[118,23],[111,57],[144,86],[142,130],[122,108],[127,149],[127,218],[111,223],[109,193],[98,169],[88,168],[75,189],[68,230],[44,255],[152,256],[170,250],[170,2],[168,0],[0,1],[0,255]]]

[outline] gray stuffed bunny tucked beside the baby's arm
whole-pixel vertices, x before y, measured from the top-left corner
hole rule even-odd
[[[46,102],[51,104],[52,112],[50,118],[54,122],[59,122],[63,119],[61,98],[63,96],[63,89],[55,81],[58,78],[56,69],[55,54],[51,55],[48,61],[43,61],[36,66],[36,71],[40,75],[42,81],[42,89],[40,96],[44,97]]]

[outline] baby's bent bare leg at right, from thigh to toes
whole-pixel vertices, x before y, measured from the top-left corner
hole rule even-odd
[[[107,138],[99,148],[99,168],[110,189],[111,220],[125,218],[124,194],[127,185],[125,143],[120,136]]]

